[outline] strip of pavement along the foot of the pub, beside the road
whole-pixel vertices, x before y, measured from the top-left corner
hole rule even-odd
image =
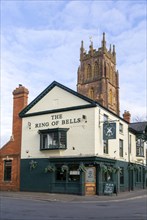
[[[0,198],[11,197],[11,198],[22,198],[48,202],[109,202],[109,201],[126,201],[135,200],[139,198],[146,198],[147,200],[147,189],[141,189],[130,192],[120,192],[117,195],[94,195],[94,196],[81,196],[71,194],[57,194],[57,193],[40,193],[40,192],[12,192],[12,191],[0,191]]]

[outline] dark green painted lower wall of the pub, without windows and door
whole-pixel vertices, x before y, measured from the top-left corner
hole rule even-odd
[[[30,161],[32,159],[21,160],[21,176],[20,176],[20,190],[32,192],[50,192],[50,193],[66,193],[66,194],[80,194],[85,195],[85,173],[80,173],[80,180],[78,182],[56,181],[55,172],[45,173],[45,167],[49,164],[79,164],[85,163],[85,166],[96,166],[96,194],[102,195],[104,184],[102,180],[102,171],[99,163],[103,162],[108,166],[123,167],[124,168],[124,183],[120,184],[119,172],[113,173],[113,183],[116,186],[117,192],[124,192],[129,190],[136,190],[144,188],[145,177],[143,177],[143,167],[141,167],[141,182],[136,182],[136,171],[128,170],[128,163],[123,161],[114,161],[102,158],[52,158],[35,159],[37,167],[30,170]]]

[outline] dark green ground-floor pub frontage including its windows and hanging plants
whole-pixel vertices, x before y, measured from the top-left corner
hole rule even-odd
[[[142,189],[146,187],[143,166],[135,166],[123,161],[98,157],[21,159],[21,191],[66,193],[85,195],[85,170],[80,169],[79,176],[69,181],[70,166],[96,168],[96,194],[104,194],[106,182],[114,183],[114,193]],[[32,166],[34,164],[34,166]],[[49,171],[46,168],[49,166]],[[64,179],[57,179],[57,169],[67,167]],[[120,168],[123,170],[120,170]],[[75,172],[75,171],[74,171]],[[107,179],[107,177],[109,177]]]

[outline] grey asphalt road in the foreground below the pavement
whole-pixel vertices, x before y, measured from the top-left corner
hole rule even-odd
[[[52,202],[1,197],[0,220],[147,220],[147,198]]]

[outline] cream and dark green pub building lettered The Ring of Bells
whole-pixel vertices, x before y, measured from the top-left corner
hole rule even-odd
[[[101,195],[146,186],[147,123],[135,127],[55,81],[20,117],[20,190]]]

